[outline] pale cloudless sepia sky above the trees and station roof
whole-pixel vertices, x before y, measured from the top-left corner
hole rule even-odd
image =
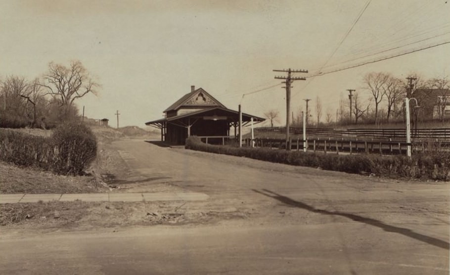
[[[191,85],[231,109],[278,109],[283,124],[285,90],[273,78],[282,73],[272,69],[308,77],[450,41],[449,14],[446,0],[0,0],[0,78],[80,60],[102,87],[77,105],[113,126],[116,110],[120,126],[161,118]],[[318,96],[322,121],[334,117],[346,89],[368,97],[371,71],[450,75],[450,44],[295,81],[291,109],[309,98],[314,114]]]

